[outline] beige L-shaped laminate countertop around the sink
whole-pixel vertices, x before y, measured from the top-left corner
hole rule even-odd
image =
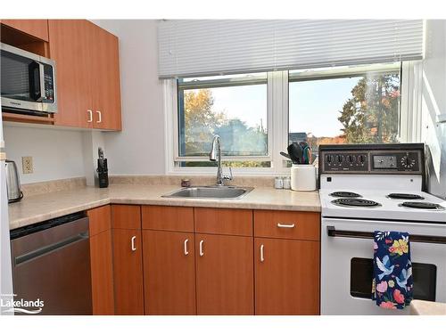
[[[81,187],[27,196],[9,205],[10,229],[106,204],[166,205],[208,208],[251,208],[320,211],[318,191],[277,190],[256,187],[239,200],[162,198],[177,185],[111,184],[109,188]]]

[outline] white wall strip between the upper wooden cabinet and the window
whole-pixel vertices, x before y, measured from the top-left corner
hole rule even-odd
[[[165,173],[156,20],[93,20],[120,38],[122,132],[105,133],[110,174]]]

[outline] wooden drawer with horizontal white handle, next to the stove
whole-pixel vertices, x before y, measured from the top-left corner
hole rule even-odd
[[[320,240],[317,212],[254,210],[254,236]]]

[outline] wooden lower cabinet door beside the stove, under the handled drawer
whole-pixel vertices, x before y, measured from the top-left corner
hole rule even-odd
[[[255,238],[255,312],[319,314],[319,242]]]

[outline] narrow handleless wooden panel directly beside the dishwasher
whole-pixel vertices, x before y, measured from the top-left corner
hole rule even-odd
[[[110,206],[88,210],[94,315],[114,314]]]

